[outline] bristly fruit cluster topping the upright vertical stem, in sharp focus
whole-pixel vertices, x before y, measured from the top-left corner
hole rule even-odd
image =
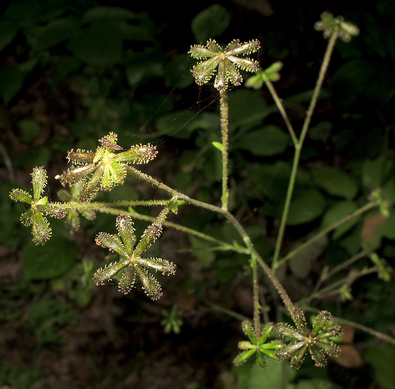
[[[250,58],[240,58],[240,55],[255,53],[260,48],[257,40],[241,43],[234,39],[225,49],[222,49],[214,39],[207,41],[206,47],[202,45],[191,46],[189,53],[198,59],[205,59],[192,68],[192,73],[198,85],[210,81],[218,67],[214,87],[224,91],[228,84],[240,85],[243,81],[238,69],[245,71],[257,71],[258,62]],[[207,58],[207,59],[206,59]]]

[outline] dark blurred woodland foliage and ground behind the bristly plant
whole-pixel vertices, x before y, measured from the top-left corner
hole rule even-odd
[[[58,201],[53,177],[65,169],[67,151],[95,149],[97,139],[115,131],[125,147],[157,145],[159,156],[144,167],[147,173],[218,204],[220,154],[212,146],[220,140],[218,95],[211,85],[193,83],[190,45],[258,38],[263,68],[284,63],[275,86],[298,129],[326,44],[313,24],[330,11],[361,33],[336,44],[305,142],[285,252],[354,212],[377,188],[390,215],[384,220],[372,211],[339,227],[280,276],[298,301],[311,293],[324,266],[339,265],[362,249],[393,266],[393,2],[374,0],[356,9],[344,1],[203,1],[180,9],[167,2],[12,0],[1,7],[0,387],[395,388],[394,346],[351,327],[342,339],[343,356],[326,370],[306,363],[287,372],[276,362],[266,371],[251,364],[232,368],[242,336],[232,315],[252,313],[246,256],[167,229],[151,248],[178,265],[176,279],[163,280],[165,295],[155,304],[139,290],[120,296],[116,285],[93,288],[91,282],[93,271],[108,262],[93,237],[114,232],[113,216],[83,219],[73,235],[64,221],[51,221],[53,237],[36,247],[19,223],[23,206],[8,196],[14,187],[29,190],[33,167],[44,166],[47,195]],[[230,207],[269,263],[293,148],[265,88],[234,88],[229,104]],[[161,195],[127,181],[98,200]],[[171,221],[242,244],[215,215],[192,207],[179,211]],[[138,223],[137,234],[145,226]],[[338,279],[369,265],[365,258]],[[273,308],[277,301],[264,277],[262,285],[261,295]],[[393,276],[383,281],[370,274],[313,303],[395,335]],[[268,315],[276,320],[274,309]]]

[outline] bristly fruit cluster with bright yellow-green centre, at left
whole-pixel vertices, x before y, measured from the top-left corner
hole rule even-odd
[[[78,200],[88,202],[98,190],[109,191],[115,185],[122,184],[127,174],[127,165],[148,163],[157,155],[156,147],[151,144],[135,145],[121,153],[122,146],[117,144],[117,134],[110,132],[99,139],[102,144],[96,151],[71,150],[67,158],[74,166],[58,175],[63,186],[70,186],[84,181],[85,184],[78,195]],[[81,165],[81,166],[76,166]]]

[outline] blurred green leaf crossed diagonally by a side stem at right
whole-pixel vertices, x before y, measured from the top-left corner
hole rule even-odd
[[[325,214],[323,215],[323,221],[321,223],[321,228],[324,230],[334,223],[341,220],[343,217],[350,215],[351,213],[357,210],[357,206],[354,203],[350,203],[348,201],[340,201],[336,203],[334,206],[329,208]],[[344,233],[351,230],[353,226],[360,220],[360,217],[355,217],[352,220],[349,220],[334,230],[332,238],[339,239]]]

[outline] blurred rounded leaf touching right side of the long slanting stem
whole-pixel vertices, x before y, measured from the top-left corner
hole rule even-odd
[[[287,224],[294,226],[308,223],[323,214],[325,198],[316,189],[302,189],[295,193],[289,206]]]

